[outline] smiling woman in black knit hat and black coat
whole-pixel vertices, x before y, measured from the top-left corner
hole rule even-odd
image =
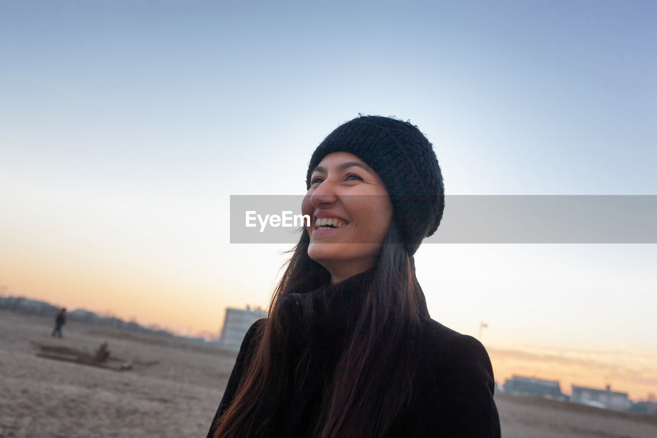
[[[355,118],[315,149],[306,184],[311,221],[208,438],[499,437],[486,350],[430,318],[415,276],[444,208],[431,143]]]

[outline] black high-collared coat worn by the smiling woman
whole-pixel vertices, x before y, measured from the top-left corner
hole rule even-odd
[[[334,339],[339,339],[350,328],[354,303],[358,302],[358,287],[367,281],[369,274],[359,274],[321,291],[313,292],[313,328],[294,333],[290,339],[311,345],[311,370],[314,374],[304,379],[303,387],[296,388],[290,399],[281,401],[283,406],[277,416],[275,436],[307,437],[313,430],[315,413],[325,390],[324,375],[331,356]],[[304,296],[310,296],[304,294]],[[323,307],[323,308],[321,308]],[[289,312],[298,306],[292,302]],[[258,345],[256,333],[266,320],[255,322],[244,336],[242,346],[229,377],[228,385],[208,432],[214,436],[215,421],[230,405],[237,391],[240,378],[248,367],[252,353]],[[307,337],[310,339],[307,339]],[[340,345],[338,343],[338,345]],[[315,358],[315,362],[312,362]],[[389,437],[500,437],[499,416],[493,392],[493,370],[484,346],[474,337],[461,335],[442,324],[426,319],[420,337],[420,361],[413,385],[411,406],[394,420]],[[330,370],[330,365],[328,366]],[[329,371],[330,372],[330,371]],[[382,384],[385,384],[382,381]]]

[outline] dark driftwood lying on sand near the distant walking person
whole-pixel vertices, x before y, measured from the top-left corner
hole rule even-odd
[[[46,359],[62,360],[63,362],[74,362],[81,365],[96,366],[105,370],[125,371],[131,370],[133,366],[152,366],[159,363],[158,360],[150,362],[141,362],[139,360],[125,360],[112,356],[104,342],[95,351],[94,354],[86,351],[64,347],[62,345],[45,345],[42,343],[30,341],[32,347],[37,350],[36,355]]]

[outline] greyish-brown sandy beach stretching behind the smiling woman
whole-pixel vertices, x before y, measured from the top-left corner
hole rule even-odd
[[[205,437],[235,353],[0,311],[0,437]],[[149,362],[112,372],[35,356],[30,341]],[[657,416],[496,395],[504,437],[657,437]],[[433,436],[431,433],[428,435]]]

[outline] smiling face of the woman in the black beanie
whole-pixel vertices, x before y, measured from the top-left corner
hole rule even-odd
[[[302,203],[310,216],[308,256],[340,281],[374,265],[392,220],[392,203],[374,170],[346,152],[324,157]]]

